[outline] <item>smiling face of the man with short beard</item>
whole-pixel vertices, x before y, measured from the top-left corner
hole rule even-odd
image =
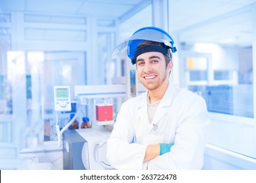
[[[139,80],[148,90],[156,90],[163,84],[168,84],[173,63],[170,61],[166,68],[165,57],[160,52],[140,54],[136,65]]]

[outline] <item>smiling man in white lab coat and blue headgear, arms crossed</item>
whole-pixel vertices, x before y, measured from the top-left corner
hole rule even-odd
[[[124,44],[121,44],[124,45]],[[127,56],[147,92],[123,103],[108,140],[116,169],[201,169],[209,117],[202,97],[169,82],[173,39],[157,27],[139,29]]]

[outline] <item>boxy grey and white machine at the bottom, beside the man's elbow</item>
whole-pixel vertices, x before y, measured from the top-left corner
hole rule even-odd
[[[64,169],[114,169],[106,159],[106,142],[111,131],[95,125],[63,134]]]

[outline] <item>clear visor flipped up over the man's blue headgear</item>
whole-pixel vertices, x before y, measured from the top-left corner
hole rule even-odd
[[[132,43],[133,41],[138,40],[148,40],[155,42],[163,42],[166,46],[173,47],[173,39],[167,36],[165,33],[158,31],[156,29],[143,29],[142,31],[135,32],[129,39],[126,39],[124,42],[119,44],[112,52],[111,58],[115,59],[125,52],[127,49],[132,50],[129,47],[133,47],[136,50],[138,45]],[[135,41],[136,42],[136,41]],[[136,48],[135,48],[136,47]]]

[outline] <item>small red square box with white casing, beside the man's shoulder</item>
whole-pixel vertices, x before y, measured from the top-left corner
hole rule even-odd
[[[96,120],[99,122],[113,120],[112,105],[96,105]]]

